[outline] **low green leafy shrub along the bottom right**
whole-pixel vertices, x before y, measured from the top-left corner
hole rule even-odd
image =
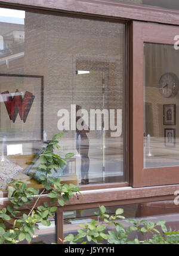
[[[119,208],[116,210],[115,215],[106,214],[106,208],[100,206],[100,214],[95,212],[98,216],[97,220],[92,220],[91,223],[81,225],[82,229],[78,230],[78,235],[74,236],[69,234],[66,236],[65,241],[70,243],[108,243],[108,244],[162,244],[162,243],[178,243],[179,232],[168,232],[165,226],[165,221],[158,221],[156,224],[153,221],[146,220],[132,220],[127,219],[126,222],[130,224],[128,227],[124,227],[119,219],[125,219],[123,214],[124,210]],[[118,220],[118,221],[117,221]],[[103,223],[103,224],[101,224]],[[109,226],[115,227],[115,231],[108,230]],[[108,227],[107,227],[108,226]],[[158,228],[162,230],[159,232]],[[152,238],[140,241],[137,239],[131,240],[128,238],[132,232],[139,233],[144,236],[146,233],[151,233]]]

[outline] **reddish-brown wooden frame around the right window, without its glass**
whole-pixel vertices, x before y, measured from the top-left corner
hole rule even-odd
[[[179,183],[179,166],[144,168],[144,42],[174,45],[177,26],[133,22],[132,38],[132,186]],[[140,73],[138,72],[140,70]]]

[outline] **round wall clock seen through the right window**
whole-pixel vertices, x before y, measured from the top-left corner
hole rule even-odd
[[[160,92],[163,97],[169,98],[175,96],[179,88],[178,77],[174,73],[165,73],[159,80]]]

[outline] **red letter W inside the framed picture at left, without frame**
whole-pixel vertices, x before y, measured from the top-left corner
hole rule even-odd
[[[2,92],[2,98],[8,115],[10,116],[10,119],[13,120],[13,123],[16,121],[18,113],[20,115],[20,119],[23,120],[23,122],[26,122],[35,98],[32,92],[26,91],[23,98],[18,90],[16,90],[14,97],[12,97],[9,91],[4,91]]]

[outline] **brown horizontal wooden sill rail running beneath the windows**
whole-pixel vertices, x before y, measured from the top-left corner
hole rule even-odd
[[[174,199],[174,192],[176,190],[179,190],[179,185],[143,187],[136,189],[133,189],[132,187],[119,187],[112,189],[85,190],[82,191],[82,195],[78,195],[78,197],[74,194],[73,198],[70,199],[69,202],[66,202],[64,210],[70,208],[84,208],[84,205],[85,208],[93,208],[93,206],[99,204],[120,205],[135,202]],[[35,200],[36,198],[28,206],[32,206]],[[37,205],[42,205],[43,202],[50,203],[50,198],[47,198],[46,195],[42,195]],[[0,209],[10,204],[8,198],[0,198]],[[57,205],[57,202],[53,203],[53,205]],[[26,209],[26,207],[23,206],[20,209]]]

